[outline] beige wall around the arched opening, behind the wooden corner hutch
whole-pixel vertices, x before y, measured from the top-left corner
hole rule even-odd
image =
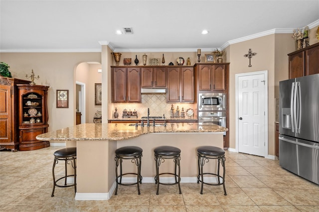
[[[26,79],[33,69],[36,84],[48,90],[49,131],[75,124],[75,69],[83,62],[101,63],[101,53],[0,53],[0,61],[10,66],[12,77]],[[69,90],[69,107],[56,108],[56,90]]]

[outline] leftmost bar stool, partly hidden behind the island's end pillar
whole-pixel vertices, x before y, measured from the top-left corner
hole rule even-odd
[[[55,187],[70,187],[74,186],[74,192],[76,193],[76,147],[68,147],[68,148],[63,148],[55,151],[53,153],[54,155],[54,162],[53,162],[53,167],[52,167],[52,175],[53,175],[53,191],[51,197],[54,197],[54,190]],[[59,162],[59,160],[64,160],[64,166],[65,166],[65,175],[63,177],[60,177],[59,179],[55,180],[55,175],[54,175],[54,168],[55,165]],[[73,169],[74,169],[74,174],[67,175],[67,164],[71,164]],[[66,179],[67,177],[74,176],[74,184],[67,185]],[[57,182],[64,179],[64,185],[58,185]]]

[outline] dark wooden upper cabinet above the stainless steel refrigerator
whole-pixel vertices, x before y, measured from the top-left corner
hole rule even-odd
[[[319,73],[319,43],[290,53],[288,56],[290,79]]]

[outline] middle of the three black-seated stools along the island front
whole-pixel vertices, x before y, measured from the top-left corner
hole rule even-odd
[[[154,156],[156,161],[156,176],[155,183],[158,185],[156,194],[159,195],[160,184],[161,185],[175,185],[178,184],[179,194],[181,194],[180,190],[180,149],[174,146],[159,146],[154,149]],[[173,159],[175,163],[175,172],[174,173],[160,173],[159,168],[160,164],[165,161],[165,159]],[[178,167],[178,174],[177,174]],[[160,175],[162,174],[170,174],[174,175],[175,182],[174,183],[160,183]]]

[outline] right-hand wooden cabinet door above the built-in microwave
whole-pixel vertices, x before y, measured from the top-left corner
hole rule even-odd
[[[225,65],[213,65],[213,90],[225,91],[226,90],[226,67]]]

